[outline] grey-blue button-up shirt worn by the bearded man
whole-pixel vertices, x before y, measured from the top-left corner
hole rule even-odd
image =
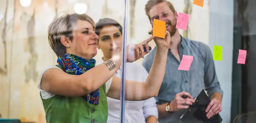
[[[190,93],[193,98],[196,98],[202,89],[207,91],[209,97],[214,92],[223,95],[209,46],[181,37],[178,50],[180,59],[182,55],[193,56],[193,62],[188,71],[178,70],[180,62],[172,54],[171,49],[168,51],[165,76],[158,96],[155,97],[156,103],[173,101],[175,95],[182,91]],[[143,59],[142,65],[148,72],[153,64],[155,51],[156,47]],[[159,123],[161,122],[159,118]]]

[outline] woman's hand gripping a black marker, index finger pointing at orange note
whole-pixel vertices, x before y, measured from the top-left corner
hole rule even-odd
[[[135,62],[136,60],[138,60],[140,58],[144,58],[144,56],[150,52],[149,51],[148,43],[153,38],[154,38],[154,36],[151,36],[150,38],[142,41],[139,44],[129,44],[127,46],[126,62]],[[146,47],[146,52],[144,52],[144,48],[143,47]]]

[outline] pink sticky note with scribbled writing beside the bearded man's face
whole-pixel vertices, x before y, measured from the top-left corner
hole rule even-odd
[[[179,13],[176,28],[187,30],[188,20],[189,20],[189,14]]]

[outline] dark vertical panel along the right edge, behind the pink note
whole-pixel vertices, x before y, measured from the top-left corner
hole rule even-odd
[[[254,0],[234,0],[234,50],[247,50],[245,65],[233,67],[231,118],[241,117],[239,122],[254,119],[255,102],[255,6]],[[235,47],[236,46],[236,47]],[[235,91],[236,90],[236,91]]]

